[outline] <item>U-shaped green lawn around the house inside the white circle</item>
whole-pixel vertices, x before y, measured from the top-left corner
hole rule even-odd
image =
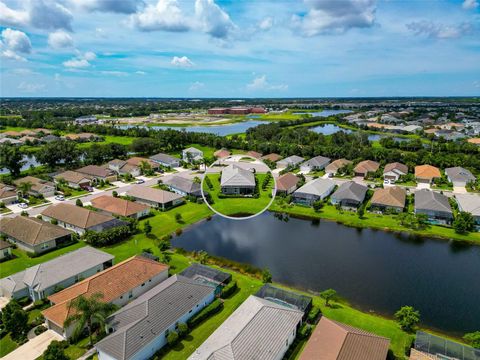
[[[266,190],[262,189],[263,179],[267,176],[267,174],[255,174],[255,178],[257,180],[257,184],[260,191],[260,196],[257,199],[254,198],[225,198],[220,199],[218,195],[221,193],[220,189],[220,174],[209,174],[206,175],[212,185],[213,190],[210,190],[207,186],[207,183],[203,182],[203,189],[210,193],[214,203],[211,206],[224,215],[235,215],[235,214],[242,214],[245,216],[246,214],[257,214],[268,205],[271,200],[269,196],[272,193],[272,186],[273,182],[270,181],[269,186],[267,186]]]

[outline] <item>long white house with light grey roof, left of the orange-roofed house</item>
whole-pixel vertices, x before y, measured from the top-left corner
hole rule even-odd
[[[0,279],[0,294],[9,299],[41,300],[112,264],[112,255],[85,246]]]

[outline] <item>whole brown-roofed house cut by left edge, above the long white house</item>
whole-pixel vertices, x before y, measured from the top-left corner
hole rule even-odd
[[[72,233],[60,226],[28,216],[0,219],[0,233],[20,249],[41,254],[68,243]]]

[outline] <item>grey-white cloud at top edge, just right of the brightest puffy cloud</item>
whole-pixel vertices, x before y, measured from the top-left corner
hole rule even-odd
[[[196,0],[195,17],[200,28],[214,38],[226,39],[237,29],[230,16],[214,0]]]

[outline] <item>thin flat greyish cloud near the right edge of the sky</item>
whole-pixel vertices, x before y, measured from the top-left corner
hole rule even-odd
[[[458,39],[473,31],[473,26],[470,23],[447,25],[424,20],[413,21],[406,26],[414,35],[436,39]]]

